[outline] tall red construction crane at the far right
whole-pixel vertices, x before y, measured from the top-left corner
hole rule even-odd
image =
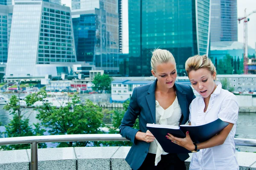
[[[244,17],[238,18],[240,23],[241,20],[244,20],[244,74],[248,74],[248,35],[247,35],[247,22],[250,20],[249,17],[251,14],[256,13],[256,10],[250,14],[246,14],[246,8],[244,9]]]

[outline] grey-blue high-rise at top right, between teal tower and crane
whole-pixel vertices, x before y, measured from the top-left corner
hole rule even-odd
[[[237,41],[237,0],[212,0],[211,42]]]

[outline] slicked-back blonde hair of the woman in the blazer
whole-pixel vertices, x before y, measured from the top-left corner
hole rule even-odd
[[[172,53],[168,50],[155,49],[152,51],[151,69],[156,72],[157,65],[162,63],[175,62]]]

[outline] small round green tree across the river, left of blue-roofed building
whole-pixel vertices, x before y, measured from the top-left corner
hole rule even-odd
[[[92,81],[93,90],[97,90],[99,93],[102,93],[104,90],[111,91],[111,81],[112,78],[107,74],[97,74]]]

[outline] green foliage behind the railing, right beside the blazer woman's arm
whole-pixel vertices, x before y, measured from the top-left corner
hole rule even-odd
[[[127,111],[127,108],[129,106],[130,100],[127,100],[123,103],[123,111],[120,110],[114,110],[111,114],[112,119],[112,126],[109,127],[109,133],[110,134],[119,134],[119,126],[121,125],[121,120],[124,117],[125,111]],[[140,129],[139,125],[139,118],[136,119],[136,122],[134,124],[135,129]],[[111,141],[111,142],[102,142],[105,146],[131,146],[132,142],[130,141]]]

